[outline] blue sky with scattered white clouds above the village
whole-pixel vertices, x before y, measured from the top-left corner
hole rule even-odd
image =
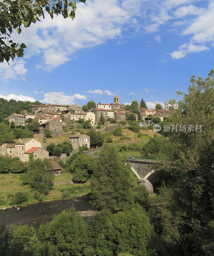
[[[23,58],[0,63],[0,97],[50,104],[148,108],[187,92],[214,68],[214,0],[76,1],[75,19],[45,19],[20,35]]]

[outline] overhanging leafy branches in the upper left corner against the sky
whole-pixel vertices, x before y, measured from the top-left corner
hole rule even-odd
[[[85,0],[79,0],[79,2],[85,3]],[[4,60],[9,62],[10,59],[14,60],[15,56],[23,57],[23,51],[26,45],[13,42],[11,34],[14,29],[20,34],[22,24],[27,28],[31,23],[36,23],[39,17],[43,16],[44,18],[44,9],[49,13],[52,19],[53,13],[57,15],[62,14],[64,19],[68,16],[72,20],[75,18],[75,1],[40,0],[34,2],[30,0],[20,2],[4,0],[4,2],[2,2],[0,6],[0,21],[2,24],[0,28],[2,35],[0,62]]]

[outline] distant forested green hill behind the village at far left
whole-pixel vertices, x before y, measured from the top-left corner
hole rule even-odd
[[[22,110],[27,110],[28,113],[31,112],[31,105],[44,105],[39,101],[30,102],[30,101],[21,101],[21,100],[5,100],[0,98],[0,122],[12,113],[19,114]]]

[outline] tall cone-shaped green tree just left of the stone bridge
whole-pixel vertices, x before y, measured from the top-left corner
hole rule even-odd
[[[114,210],[127,202],[131,193],[131,167],[114,147],[100,150],[91,176],[91,204],[98,209]]]

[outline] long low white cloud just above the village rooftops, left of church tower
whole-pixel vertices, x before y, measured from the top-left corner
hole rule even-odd
[[[75,99],[86,100],[86,95],[81,95],[79,93],[65,95],[64,92],[48,92],[44,94],[44,99],[41,100],[41,102],[50,104],[71,104]]]

